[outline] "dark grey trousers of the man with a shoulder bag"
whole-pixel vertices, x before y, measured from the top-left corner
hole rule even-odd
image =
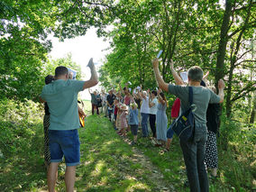
[[[207,127],[196,123],[193,142],[179,140],[187,169],[187,178],[192,192],[208,192],[209,183],[205,167]]]

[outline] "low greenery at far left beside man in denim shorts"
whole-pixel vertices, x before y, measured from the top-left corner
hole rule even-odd
[[[32,191],[46,184],[42,154],[41,105],[0,101],[0,180],[2,191]],[[25,178],[25,179],[24,179]]]

